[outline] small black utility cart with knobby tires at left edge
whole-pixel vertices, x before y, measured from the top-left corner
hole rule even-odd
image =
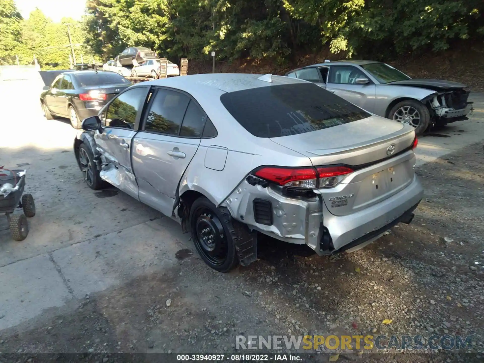
[[[29,234],[27,217],[35,215],[35,203],[31,194],[23,194],[26,170],[0,167],[0,215],[5,214],[10,234],[15,241],[23,241]],[[22,214],[14,214],[16,208]]]

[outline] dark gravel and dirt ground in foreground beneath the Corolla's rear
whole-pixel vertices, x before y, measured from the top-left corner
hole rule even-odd
[[[483,154],[482,144],[472,145],[418,168],[426,193],[412,224],[393,227],[362,250],[318,257],[261,239],[256,263],[222,274],[183,249],[163,274],[3,331],[0,362],[175,362],[174,353],[246,353],[235,349],[235,335],[269,334],[472,335],[465,351],[293,353],[307,362],[482,362]]]

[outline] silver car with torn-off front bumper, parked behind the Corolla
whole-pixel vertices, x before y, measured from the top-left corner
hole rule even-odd
[[[407,123],[417,135],[432,125],[467,120],[466,86],[440,79],[412,79],[376,61],[325,61],[286,73],[314,82],[376,115]]]

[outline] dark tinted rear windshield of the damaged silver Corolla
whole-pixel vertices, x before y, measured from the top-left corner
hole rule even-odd
[[[235,120],[257,137],[304,134],[371,116],[310,83],[229,92],[220,96],[220,101]]]

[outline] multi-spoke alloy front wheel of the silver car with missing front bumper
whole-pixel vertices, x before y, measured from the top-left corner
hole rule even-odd
[[[388,118],[412,126],[415,134],[420,136],[429,125],[430,112],[422,102],[405,100],[393,106]]]

